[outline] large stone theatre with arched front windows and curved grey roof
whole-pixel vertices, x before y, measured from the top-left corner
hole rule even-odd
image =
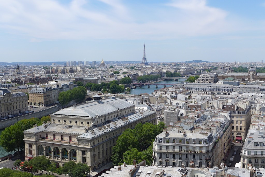
[[[25,159],[39,155],[57,165],[69,160],[95,171],[109,163],[118,136],[137,123],[156,124],[156,112],[135,113],[135,105],[115,97],[68,107],[50,115],[51,123],[24,131]]]

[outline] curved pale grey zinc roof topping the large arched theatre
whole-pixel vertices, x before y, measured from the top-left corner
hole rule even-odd
[[[81,117],[96,117],[96,115],[104,115],[112,113],[119,109],[132,106],[131,103],[122,99],[106,99],[100,102],[92,102],[76,107],[68,107],[55,112],[53,115],[69,115],[69,116],[81,116]]]

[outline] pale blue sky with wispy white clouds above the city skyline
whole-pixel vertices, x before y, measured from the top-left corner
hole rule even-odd
[[[260,62],[264,39],[259,0],[0,0],[0,62]]]

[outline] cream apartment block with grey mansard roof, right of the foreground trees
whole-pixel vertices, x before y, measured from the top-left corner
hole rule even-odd
[[[188,167],[192,162],[195,167],[206,168],[219,166],[226,159],[232,142],[230,115],[203,115],[194,122],[191,120],[168,126],[156,136],[153,143],[155,165]]]

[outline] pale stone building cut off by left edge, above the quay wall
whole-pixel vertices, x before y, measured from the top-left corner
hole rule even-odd
[[[10,92],[0,87],[1,118],[28,111],[28,95],[23,92]]]

